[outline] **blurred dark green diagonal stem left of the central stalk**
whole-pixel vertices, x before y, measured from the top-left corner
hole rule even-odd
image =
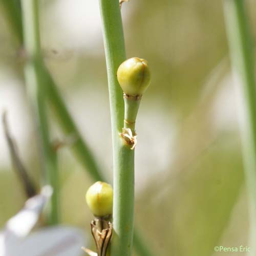
[[[10,17],[9,24],[13,34],[17,36],[20,45],[22,45],[23,35],[20,31],[22,31],[23,26],[20,10],[16,8],[16,5],[10,4],[15,0],[10,0],[10,3],[6,0],[0,1],[2,1],[1,3],[5,7],[5,16]],[[83,167],[90,173],[95,181],[104,181],[105,179],[102,175],[102,172],[100,171],[89,146],[79,133],[79,130],[74,120],[72,119],[72,116],[70,115],[51,74],[46,69],[46,67],[44,67],[41,72],[43,73],[41,78],[44,79],[44,86],[47,87],[45,89],[46,97],[49,99],[52,105],[52,108],[58,118],[58,122],[61,125],[62,131],[67,135],[72,135],[75,138],[75,142],[72,144],[71,149]]]

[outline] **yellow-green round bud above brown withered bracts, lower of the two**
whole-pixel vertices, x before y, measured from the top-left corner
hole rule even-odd
[[[110,184],[97,181],[89,187],[86,202],[94,216],[104,217],[112,214],[113,188]]]

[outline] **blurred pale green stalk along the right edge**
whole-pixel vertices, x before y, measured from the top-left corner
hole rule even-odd
[[[239,82],[241,138],[250,218],[250,254],[256,254],[256,88],[245,1],[224,0],[224,15],[234,76]]]

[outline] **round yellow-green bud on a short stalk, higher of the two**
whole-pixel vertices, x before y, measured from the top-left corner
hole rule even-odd
[[[117,70],[117,79],[126,95],[142,95],[151,81],[147,61],[137,57],[125,60]]]

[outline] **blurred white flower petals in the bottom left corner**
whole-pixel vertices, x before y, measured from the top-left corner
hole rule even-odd
[[[45,186],[41,193],[25,203],[0,233],[0,256],[78,256],[84,244],[84,233],[73,227],[53,226],[30,231],[52,195]],[[28,236],[29,235],[29,236]]]

